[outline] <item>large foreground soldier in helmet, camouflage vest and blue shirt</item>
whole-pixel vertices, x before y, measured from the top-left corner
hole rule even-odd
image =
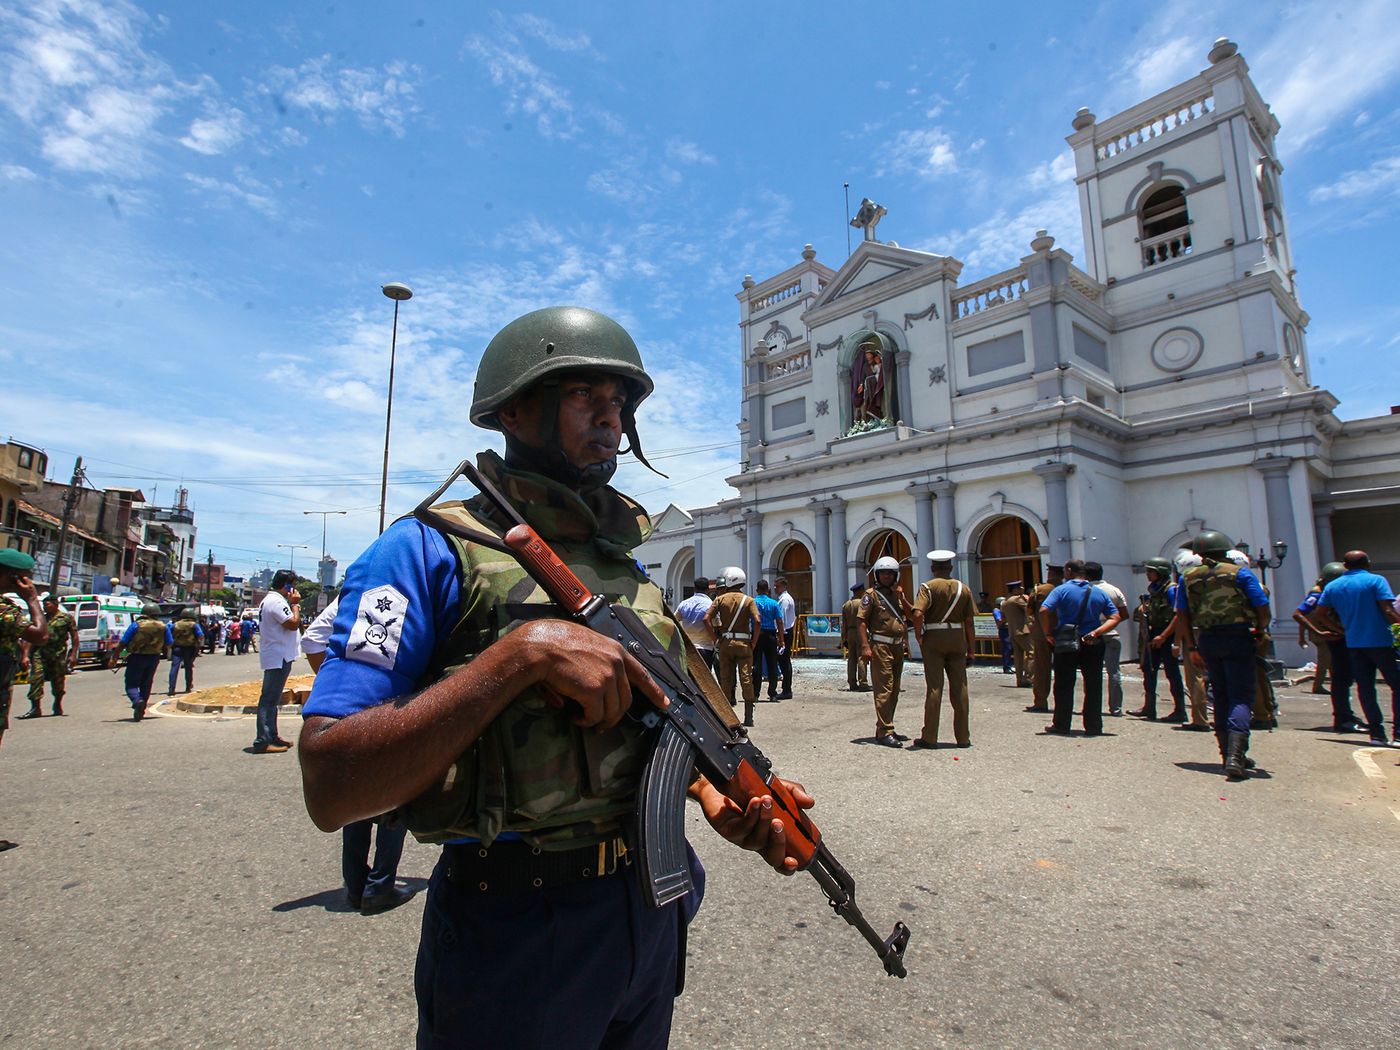
[[[616,322],[550,308],[486,347],[470,420],[505,434],[504,459],[477,463],[517,512],[679,652],[685,634],[630,553],[647,512],[609,486],[623,438],[645,463],[636,409],[651,389]],[[651,741],[624,715],[633,693],[665,697],[617,641],[563,619],[514,559],[463,532],[505,531],[490,503],[420,512],[346,574],[304,708],[307,808],[323,830],[398,809],[417,839],[444,843],[414,980],[419,1046],[556,1047],[561,1018],[573,1046],[664,1046],[697,902],[644,900],[629,836]],[[741,809],[704,777],[690,795],[724,837],[795,871],[771,797]]]

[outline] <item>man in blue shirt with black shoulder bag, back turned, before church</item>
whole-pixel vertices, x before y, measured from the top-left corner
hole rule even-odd
[[[1084,676],[1084,735],[1103,735],[1103,636],[1119,626],[1123,615],[1103,591],[1084,578],[1084,561],[1064,563],[1064,582],[1040,606],[1040,627],[1054,644],[1054,714],[1047,734],[1070,734],[1074,715],[1074,680]],[[1074,626],[1075,643],[1056,638],[1060,626]]]

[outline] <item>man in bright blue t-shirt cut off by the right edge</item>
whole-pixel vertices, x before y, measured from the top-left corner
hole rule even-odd
[[[1348,550],[1341,564],[1347,571],[1323,588],[1317,616],[1345,634],[1351,676],[1371,727],[1371,742],[1400,748],[1400,666],[1396,665],[1394,637],[1390,633],[1390,624],[1400,623],[1400,613],[1393,605],[1396,596],[1386,578],[1371,571],[1371,557],[1365,550]],[[1386,736],[1385,715],[1376,700],[1378,671],[1390,686],[1390,717],[1394,721],[1390,738]]]

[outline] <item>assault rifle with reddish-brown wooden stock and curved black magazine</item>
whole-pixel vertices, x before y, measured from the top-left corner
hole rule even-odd
[[[511,522],[504,536],[466,528],[431,510],[463,476]],[[413,517],[440,532],[514,557],[570,619],[619,641],[671,700],[664,711],[644,700],[634,700],[629,711],[629,717],[645,725],[654,739],[638,785],[636,825],[641,885],[652,907],[668,904],[692,889],[685,802],[693,771],[700,770],[741,808],[762,795],[773,799],[773,813],[783,822],[788,855],[797,860],[798,869],[811,872],[836,914],[860,930],[883,962],[885,972],[895,977],[904,976],[909,927],[896,923],[889,937],[881,937],[871,927],[855,906],[855,879],[826,848],[822,833],[792,798],[787,784],[773,774],[773,763],[749,741],[743,727],[731,725],[720,715],[631,609],[592,594],[469,461],[458,465],[456,472],[419,504]]]

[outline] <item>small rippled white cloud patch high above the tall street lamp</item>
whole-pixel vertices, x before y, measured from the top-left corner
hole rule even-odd
[[[405,125],[420,111],[420,70],[405,62],[379,69],[339,66],[330,55],[307,59],[295,69],[276,66],[267,73],[263,94],[283,106],[301,109],[318,119],[349,113],[364,127],[385,127],[402,136]]]

